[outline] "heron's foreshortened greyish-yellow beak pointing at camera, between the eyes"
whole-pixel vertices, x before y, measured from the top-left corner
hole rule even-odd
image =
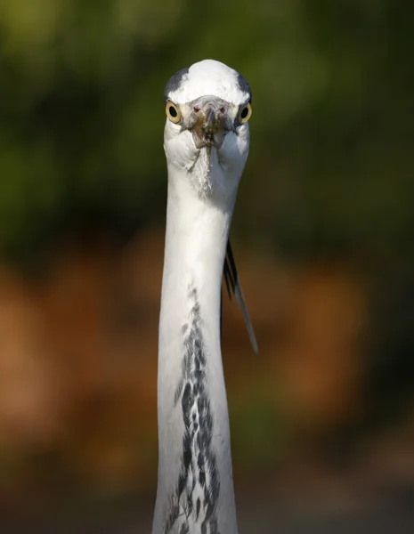
[[[229,103],[217,97],[202,97],[191,102],[191,131],[198,149],[215,147],[220,149],[224,137],[231,129]]]

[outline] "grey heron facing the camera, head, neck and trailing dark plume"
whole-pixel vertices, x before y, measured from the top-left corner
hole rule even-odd
[[[206,60],[166,85],[166,243],[158,339],[152,534],[237,534],[221,355],[223,272],[248,318],[229,230],[248,158],[251,91]]]

